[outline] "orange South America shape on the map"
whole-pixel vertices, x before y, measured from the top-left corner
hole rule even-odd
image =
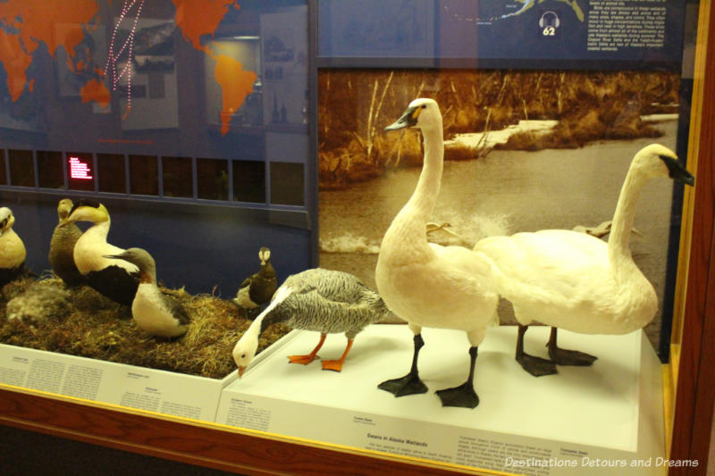
[[[214,58],[214,77],[222,90],[221,135],[225,136],[229,131],[231,113],[239,110],[253,90],[258,76],[253,71],[243,71],[243,65],[231,56],[216,54]]]

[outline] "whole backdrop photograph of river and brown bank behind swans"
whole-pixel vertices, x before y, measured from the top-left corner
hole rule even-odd
[[[443,116],[428,239],[471,248],[488,236],[610,221],[634,154],[652,143],[675,149],[679,85],[667,71],[319,71],[320,266],[375,288],[381,240],[422,167],[418,130],[384,131],[412,99],[432,97]],[[673,187],[649,182],[631,237],[660,305],[672,292]],[[509,303],[499,313],[502,324],[516,323]],[[661,314],[646,328],[656,348]]]

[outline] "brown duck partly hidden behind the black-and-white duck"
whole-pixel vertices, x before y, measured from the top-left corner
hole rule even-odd
[[[73,205],[69,198],[63,198],[60,200],[59,205],[57,205],[59,223],[52,233],[50,253],[48,256],[52,271],[69,287],[84,283],[84,277],[74,264],[73,257],[74,245],[82,236],[82,231],[75,223],[69,223],[64,226],[61,225],[62,221],[70,214]]]

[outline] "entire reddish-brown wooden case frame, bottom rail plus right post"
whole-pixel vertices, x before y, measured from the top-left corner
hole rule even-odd
[[[672,358],[666,374],[669,458],[698,460],[671,475],[704,474],[715,401],[715,15],[700,3],[686,192]],[[224,471],[252,474],[471,472],[258,431],[172,418],[0,385],[0,424]]]

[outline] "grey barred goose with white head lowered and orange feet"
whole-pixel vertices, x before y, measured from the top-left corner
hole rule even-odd
[[[233,347],[233,360],[239,376],[243,375],[256,355],[260,335],[271,324],[282,322],[293,329],[320,332],[320,341],[310,354],[291,355],[290,363],[313,362],[327,334],[344,332],[348,345],[341,358],[323,361],[324,370],[340,372],[355,336],[368,324],[388,317],[392,314],[383,299],[352,274],[322,268],[302,271],[278,288],[271,303]]]

